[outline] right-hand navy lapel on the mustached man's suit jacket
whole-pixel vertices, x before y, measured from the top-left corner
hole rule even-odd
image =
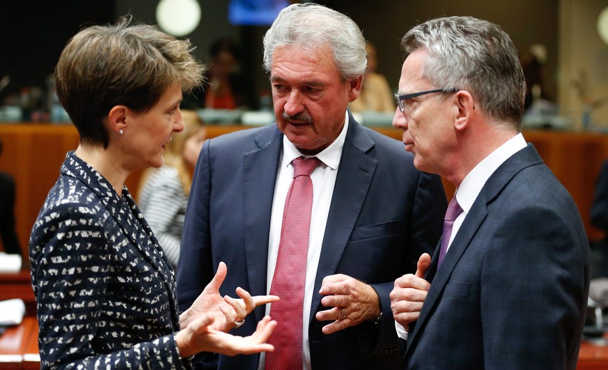
[[[352,116],[349,122],[332,205],[329,207],[325,226],[325,237],[315,277],[315,292],[319,291],[323,278],[333,275],[338,268],[377,167],[377,160],[367,154],[373,148],[374,142]],[[320,295],[313,295],[310,320],[313,320],[320,300]]]

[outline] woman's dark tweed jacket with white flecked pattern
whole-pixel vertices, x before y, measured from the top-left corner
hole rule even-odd
[[[123,187],[74,152],[30,238],[42,368],[174,369],[175,274]]]

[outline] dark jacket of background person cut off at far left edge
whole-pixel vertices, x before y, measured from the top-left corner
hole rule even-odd
[[[15,232],[15,180],[0,172],[0,237],[4,252],[21,254]]]

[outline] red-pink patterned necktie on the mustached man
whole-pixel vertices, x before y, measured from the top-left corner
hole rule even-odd
[[[277,325],[268,339],[274,351],[266,354],[267,370],[302,369],[302,309],[313,206],[310,176],[319,164],[316,157],[293,160],[293,181],[285,201],[279,254],[270,286],[270,294],[281,300],[270,306],[270,316]]]

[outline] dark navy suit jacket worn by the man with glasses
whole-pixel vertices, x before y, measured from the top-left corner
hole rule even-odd
[[[403,369],[575,369],[588,242],[570,194],[530,144],[490,176],[426,278]]]

